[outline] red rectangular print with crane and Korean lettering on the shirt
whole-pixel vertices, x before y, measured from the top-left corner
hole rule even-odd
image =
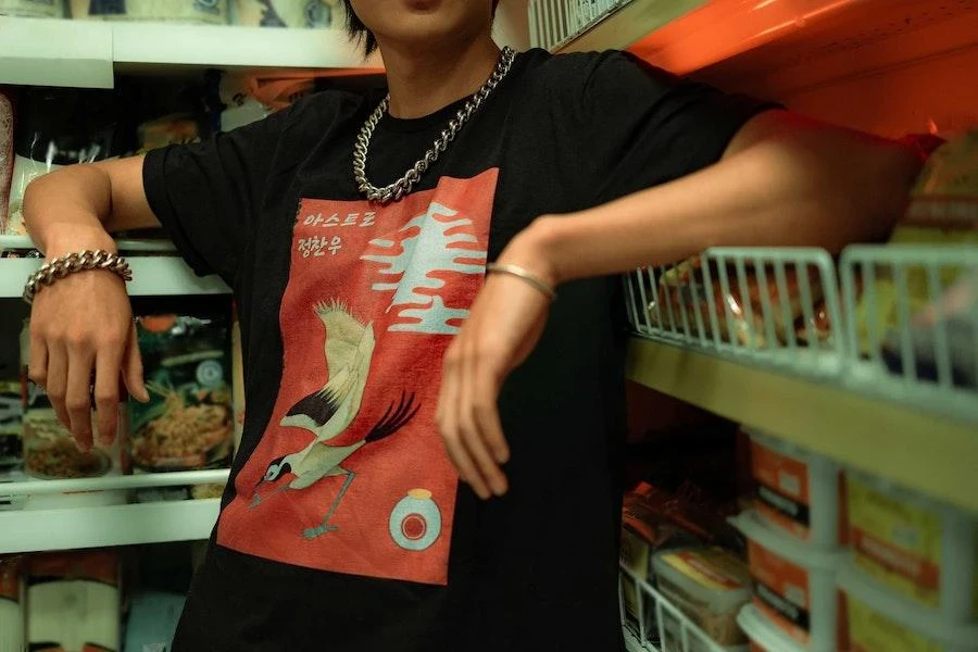
[[[457,476],[435,427],[444,350],[485,279],[498,178],[398,203],[303,199],[285,364],[217,541],[337,573],[448,581]]]

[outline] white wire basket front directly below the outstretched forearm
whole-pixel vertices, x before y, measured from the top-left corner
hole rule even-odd
[[[626,276],[638,336],[810,376],[839,374],[844,331],[826,251],[722,248],[691,260]]]

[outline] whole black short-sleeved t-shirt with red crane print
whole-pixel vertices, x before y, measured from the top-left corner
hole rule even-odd
[[[400,177],[461,105],[384,117],[368,178]],[[534,50],[389,205],[353,181],[373,109],[323,92],[146,159],[181,254],[234,288],[246,367],[233,484],[174,650],[618,650],[620,279],[561,287],[505,381],[504,498],[479,501],[443,452],[441,356],[534,218],[710,165],[762,106],[620,53]]]

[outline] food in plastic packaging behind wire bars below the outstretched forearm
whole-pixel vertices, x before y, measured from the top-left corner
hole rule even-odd
[[[711,319],[710,300],[707,298],[704,277],[710,275],[713,293],[713,316],[717,321],[718,337],[727,342],[764,349],[777,347],[789,341],[789,330],[794,334],[802,331],[804,337],[797,338],[802,343],[825,341],[829,336],[828,315],[822,304],[822,314],[815,312],[816,303],[823,299],[822,281],[818,272],[814,268],[806,271],[806,277],[800,279],[798,269],[793,265],[786,265],[785,285],[787,297],[780,297],[777,277],[773,268],[765,268],[763,275],[757,269],[748,265],[747,288],[748,297],[741,292],[741,284],[737,269],[728,265],[728,288],[724,288],[719,279],[719,269],[715,262],[710,261],[704,268],[701,256],[692,256],[678,265],[667,269],[659,279],[659,302],[650,305],[652,323],[661,328],[675,329],[680,333],[689,333],[693,336],[700,334],[697,322],[697,313],[703,325],[703,337],[713,337],[713,323]],[[801,284],[807,283],[811,293],[808,308],[813,311],[811,328],[804,322],[805,310],[802,305]],[[766,293],[769,304],[768,317],[770,318],[775,341],[765,326],[765,311],[762,292]],[[787,306],[788,319],[786,319]],[[750,311],[750,315],[748,314]],[[730,318],[727,319],[729,312]],[[685,315],[685,318],[684,318]],[[800,322],[800,323],[799,323]]]

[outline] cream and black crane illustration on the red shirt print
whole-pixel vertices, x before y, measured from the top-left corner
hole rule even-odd
[[[343,468],[342,463],[364,446],[380,441],[403,428],[418,411],[418,406],[414,404],[414,394],[409,397],[402,392],[400,401],[397,404],[391,403],[362,440],[347,446],[329,443],[350,426],[360,412],[374,354],[374,325],[361,324],[342,303],[337,301],[318,303],[314,310],[326,328],[328,381],[323,389],[292,405],[279,422],[279,425],[285,427],[309,430],[314,438],[305,448],[268,463],[255,489],[263,484],[278,480],[287,473],[296,477],[264,499],[255,491],[251,502],[253,509],[280,491],[301,490],[326,477],[344,476],[343,485],[323,522],[317,527],[308,528],[302,532],[306,539],[315,539],[319,535],[339,529],[330,525],[329,519],[333,518],[353,478],[356,477],[355,473]]]

